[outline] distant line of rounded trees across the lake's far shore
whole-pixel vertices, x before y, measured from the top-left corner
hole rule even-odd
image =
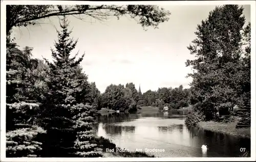
[[[195,102],[191,89],[183,89],[182,85],[174,89],[164,87],[157,91],[148,90],[143,94],[140,93],[133,83],[127,83],[125,87],[121,84],[112,84],[100,95],[101,103],[98,110],[104,107],[131,112],[137,111],[136,107],[157,106],[162,109],[164,105],[169,109],[180,109]]]

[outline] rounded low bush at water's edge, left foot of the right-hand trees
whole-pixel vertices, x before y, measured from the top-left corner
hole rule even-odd
[[[196,126],[198,122],[205,120],[205,116],[199,111],[190,111],[185,120],[186,125]]]

